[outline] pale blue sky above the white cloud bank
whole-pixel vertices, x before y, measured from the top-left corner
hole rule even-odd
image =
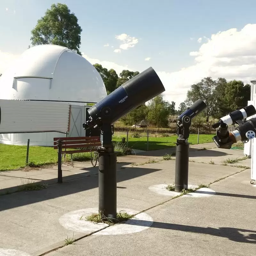
[[[83,29],[80,51],[85,55],[134,70],[152,66],[166,73],[195,64],[195,57],[189,53],[197,52],[208,40],[203,38],[200,44],[198,38],[211,38],[219,31],[241,30],[246,24],[253,24],[256,7],[252,0],[243,4],[241,0],[1,0],[0,51],[14,55],[25,51],[37,20],[52,3],[58,2],[67,4],[76,14]],[[123,33],[139,42],[129,50],[113,52],[120,44],[115,36]],[[151,59],[145,61],[147,57]]]

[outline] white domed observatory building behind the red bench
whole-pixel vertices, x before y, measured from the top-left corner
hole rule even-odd
[[[92,64],[76,51],[59,45],[27,49],[0,78],[2,100],[68,102],[71,105],[68,137],[90,135],[82,127],[88,119],[87,110],[106,96],[103,80]],[[54,137],[65,137],[65,134],[0,134],[0,143],[26,145],[30,139],[30,145],[52,146]]]

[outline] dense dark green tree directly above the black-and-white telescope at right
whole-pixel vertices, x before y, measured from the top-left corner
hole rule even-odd
[[[247,106],[247,101],[250,100],[250,95],[250,84],[244,85],[244,82],[240,80],[232,80],[228,82],[221,97],[220,114],[224,116],[229,112]]]

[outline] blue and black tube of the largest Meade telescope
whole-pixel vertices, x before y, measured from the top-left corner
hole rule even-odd
[[[137,108],[164,91],[160,78],[150,67],[88,109],[88,113],[94,122],[97,119],[107,118],[113,124],[133,108]]]

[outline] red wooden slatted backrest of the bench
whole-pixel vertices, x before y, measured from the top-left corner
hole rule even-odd
[[[57,141],[62,140],[62,148],[87,148],[101,146],[100,136],[53,138],[53,148],[57,149]]]

